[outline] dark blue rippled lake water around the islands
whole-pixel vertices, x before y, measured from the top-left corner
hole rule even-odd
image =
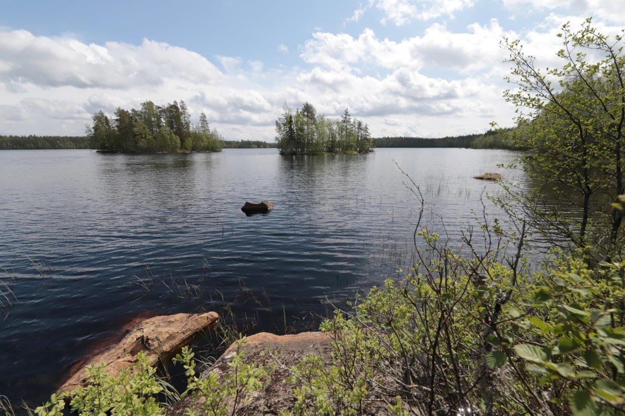
[[[0,151],[0,279],[19,301],[0,316],[0,394],[38,404],[139,315],[229,306],[251,332],[314,325],[410,258],[418,207],[394,162],[457,237],[499,187],[472,176],[515,156]],[[262,199],[276,209],[241,212]]]

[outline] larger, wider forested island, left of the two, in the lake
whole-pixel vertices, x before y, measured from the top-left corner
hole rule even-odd
[[[184,101],[157,106],[152,101],[139,109],[116,109],[114,117],[103,111],[93,115],[88,127],[89,143],[99,152],[176,153],[215,152],[223,147],[222,137],[210,129],[202,112],[195,126]]]

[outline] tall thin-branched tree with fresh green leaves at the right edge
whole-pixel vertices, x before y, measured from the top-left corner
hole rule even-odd
[[[499,202],[549,245],[582,250],[589,262],[621,258],[623,214],[606,206],[625,192],[623,37],[601,34],[591,19],[558,36],[561,65],[546,69],[519,41],[502,43],[512,66],[504,96],[519,114],[517,129],[502,134],[530,149],[519,162],[536,185],[509,187]]]

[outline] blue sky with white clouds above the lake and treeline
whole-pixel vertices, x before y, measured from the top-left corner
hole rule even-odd
[[[274,139],[286,101],[372,135],[511,126],[504,37],[557,66],[556,34],[625,0],[0,0],[0,134],[82,135],[91,115],[183,99],[225,139]]]

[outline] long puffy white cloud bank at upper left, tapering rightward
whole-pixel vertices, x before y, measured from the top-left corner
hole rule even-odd
[[[0,81],[79,88],[158,86],[167,77],[214,81],[221,72],[195,52],[163,42],[84,44],[67,37],[0,32]]]

